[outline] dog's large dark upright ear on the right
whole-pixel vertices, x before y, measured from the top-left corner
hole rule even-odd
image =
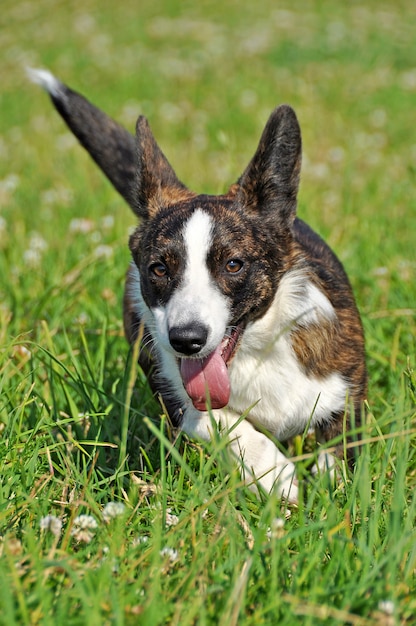
[[[290,226],[296,214],[301,148],[296,114],[282,105],[271,114],[254,157],[232,187],[237,200],[248,210]]]

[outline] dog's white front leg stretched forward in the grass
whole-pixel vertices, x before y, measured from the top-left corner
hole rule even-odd
[[[256,430],[248,420],[227,409],[212,411],[221,434],[229,440],[228,447],[238,459],[241,475],[250,489],[270,493],[276,489],[288,502],[298,501],[295,466],[266,435]],[[209,440],[212,437],[210,414],[188,409],[182,429],[190,437]]]

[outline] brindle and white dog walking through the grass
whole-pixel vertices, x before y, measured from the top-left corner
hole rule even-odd
[[[317,441],[360,425],[364,335],[342,264],[296,216],[301,132],[288,105],[224,195],[180,182],[145,117],[134,137],[45,70],[31,78],[139,218],[130,237],[125,334],[172,425],[228,437],[244,480],[298,500],[295,465],[275,441]],[[275,441],[273,441],[273,438]],[[325,453],[318,467],[330,467]]]

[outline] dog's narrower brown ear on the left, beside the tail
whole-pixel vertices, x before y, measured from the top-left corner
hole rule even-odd
[[[156,143],[147,119],[136,125],[137,171],[133,209],[143,218],[152,218],[163,207],[193,197],[178,180],[172,166]]]

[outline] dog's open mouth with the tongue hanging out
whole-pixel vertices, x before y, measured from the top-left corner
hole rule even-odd
[[[186,393],[198,411],[221,409],[230,399],[228,364],[234,356],[243,332],[243,324],[233,327],[220,345],[203,359],[180,359],[180,371]]]

